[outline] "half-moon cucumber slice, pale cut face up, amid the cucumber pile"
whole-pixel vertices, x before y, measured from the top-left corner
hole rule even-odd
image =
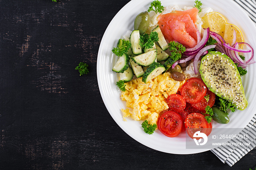
[[[157,58],[157,49],[149,50],[146,53],[136,55],[135,57],[132,57],[132,60],[141,66],[149,66],[153,62],[155,62],[155,59]]]

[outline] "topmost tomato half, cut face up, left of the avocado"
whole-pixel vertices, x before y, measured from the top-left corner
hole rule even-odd
[[[180,93],[188,103],[198,103],[205,96],[207,87],[199,78],[191,78],[182,85]]]

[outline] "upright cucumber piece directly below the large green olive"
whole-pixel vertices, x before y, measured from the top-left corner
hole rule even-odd
[[[142,48],[139,44],[140,42],[140,31],[139,30],[133,30],[130,35],[130,42],[132,44],[131,49],[132,53],[139,55],[142,54]]]

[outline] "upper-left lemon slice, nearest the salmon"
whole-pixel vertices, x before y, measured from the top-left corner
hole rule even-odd
[[[217,34],[224,36],[225,24],[227,20],[219,12],[209,12],[202,17],[204,20],[202,27],[210,28],[210,31],[216,32]]]

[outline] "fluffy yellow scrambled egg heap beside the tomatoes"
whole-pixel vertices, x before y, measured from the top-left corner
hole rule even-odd
[[[132,110],[121,109],[123,119],[131,116],[133,120],[147,119],[149,124],[157,124],[159,113],[169,108],[165,98],[175,94],[183,83],[173,80],[169,72],[147,83],[142,82],[142,77],[125,83],[126,90],[121,93],[121,99]]]

